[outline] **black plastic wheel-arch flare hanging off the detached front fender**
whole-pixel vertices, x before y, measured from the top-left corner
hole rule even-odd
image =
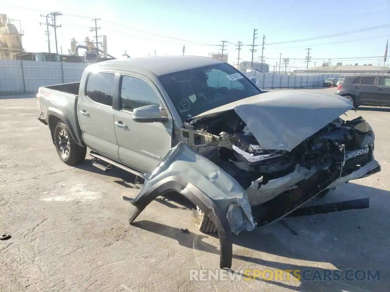
[[[129,206],[129,223],[133,223],[142,210],[156,199],[156,197],[171,191],[181,193],[213,221],[220,240],[220,268],[230,269],[232,267],[232,233],[229,221],[221,209],[204,192],[180,176],[164,178],[146,192],[140,193],[135,199],[131,200],[131,205]],[[124,199],[127,201],[126,197]]]

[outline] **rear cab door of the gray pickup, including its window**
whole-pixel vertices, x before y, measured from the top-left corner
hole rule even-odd
[[[85,144],[101,155],[119,160],[113,124],[114,88],[115,74],[91,72],[87,77],[84,92],[79,96],[78,118]]]

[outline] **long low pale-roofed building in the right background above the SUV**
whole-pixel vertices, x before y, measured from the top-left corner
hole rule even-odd
[[[337,63],[336,66],[328,66],[326,63],[323,66],[311,67],[309,69],[304,70],[294,70],[294,73],[333,73],[333,74],[381,74],[384,72],[387,74],[390,68],[385,67],[383,70],[383,66],[373,66],[372,64],[363,64],[358,65],[357,63],[354,65],[342,65],[342,63]]]

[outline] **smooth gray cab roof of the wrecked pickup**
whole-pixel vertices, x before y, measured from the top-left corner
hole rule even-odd
[[[92,66],[99,67],[99,69],[116,69],[124,71],[143,69],[149,70],[156,76],[161,76],[173,72],[220,63],[223,62],[200,56],[147,56],[144,58],[108,60],[96,63]]]

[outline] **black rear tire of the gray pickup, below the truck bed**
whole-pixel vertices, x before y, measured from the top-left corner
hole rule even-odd
[[[60,132],[67,135],[67,139],[69,141],[69,154],[65,155],[60,148]],[[78,145],[72,138],[70,134],[70,130],[68,127],[62,122],[58,121],[57,125],[55,125],[53,130],[53,142],[55,148],[57,149],[58,156],[60,159],[67,165],[76,165],[85,160],[85,156],[87,155],[87,148]]]

